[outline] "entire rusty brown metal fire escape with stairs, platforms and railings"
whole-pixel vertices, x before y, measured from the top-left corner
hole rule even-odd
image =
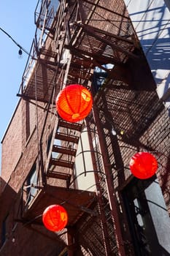
[[[104,65],[112,64],[120,71],[129,58],[138,58],[134,53],[137,43],[124,7],[120,7],[119,11],[117,8],[115,12],[109,10],[105,1],[63,0],[60,1],[57,12],[49,1],[43,1],[35,20],[35,39],[18,96],[36,104],[45,104],[46,116],[39,141],[39,177],[42,181],[40,185],[33,185],[36,189],[33,200],[28,199],[28,186],[26,182],[23,184],[25,203],[21,215],[25,222],[32,220],[34,223],[42,223],[41,218],[36,218],[42,214],[42,209],[50,204],[62,203],[68,211],[69,226],[72,227],[84,212],[95,214],[90,207],[96,197],[99,208],[103,208],[105,203],[102,195],[107,194],[107,188],[98,185],[101,193],[98,195],[74,189],[74,161],[84,122],[72,124],[57,116],[54,110],[55,97],[66,84],[82,83],[90,89],[95,67],[106,70]],[[108,72],[114,74],[114,69],[108,69]],[[49,133],[46,156],[42,142],[49,115],[53,116],[53,129]],[[95,126],[98,125],[97,122],[99,121],[96,119]],[[89,131],[90,125],[93,124],[89,124]],[[94,151],[93,144],[91,151]],[[93,156],[95,161],[97,158]],[[94,170],[96,168],[98,164],[94,166]],[[96,183],[100,178],[100,174],[96,174]],[[112,255],[116,252],[117,242],[116,239],[112,241],[114,235],[110,235],[104,224],[109,222],[108,207],[106,206],[106,211],[100,211],[100,214],[105,249],[107,255]],[[121,242],[121,239],[118,238],[118,241]],[[124,255],[123,249],[121,255]]]

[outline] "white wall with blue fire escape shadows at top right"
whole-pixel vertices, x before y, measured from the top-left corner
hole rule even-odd
[[[170,88],[170,1],[124,1],[161,98]],[[170,99],[166,99],[165,105],[170,107]]]

